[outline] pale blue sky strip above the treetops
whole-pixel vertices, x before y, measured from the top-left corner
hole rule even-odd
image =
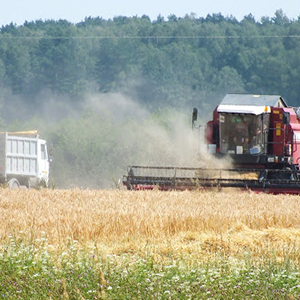
[[[22,25],[25,21],[66,19],[72,23],[84,21],[85,17],[112,19],[115,16],[148,15],[155,20],[159,14],[167,18],[171,14],[184,17],[195,13],[196,17],[222,13],[234,16],[239,21],[252,14],[257,21],[263,16],[273,17],[282,9],[289,19],[300,16],[299,0],[1,0],[0,26],[13,22]]]

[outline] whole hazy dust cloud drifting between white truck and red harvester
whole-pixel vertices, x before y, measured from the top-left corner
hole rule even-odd
[[[6,91],[0,99],[2,130],[40,132],[53,149],[57,188],[114,188],[129,165],[225,167],[207,153],[203,128],[192,130],[192,107],[151,112],[119,93],[79,101],[45,90],[38,98],[26,105]]]

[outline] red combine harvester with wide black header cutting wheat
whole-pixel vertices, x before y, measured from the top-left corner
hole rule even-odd
[[[195,108],[192,118],[195,129]],[[205,139],[216,164],[226,159],[230,168],[130,166],[123,184],[135,190],[237,187],[300,194],[300,108],[281,96],[227,94]]]

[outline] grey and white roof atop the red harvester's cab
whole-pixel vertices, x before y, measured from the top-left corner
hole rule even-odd
[[[279,95],[227,94],[218,112],[259,115],[270,112],[271,107],[287,107],[287,104]]]

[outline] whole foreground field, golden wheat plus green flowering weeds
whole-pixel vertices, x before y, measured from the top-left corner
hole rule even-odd
[[[0,299],[298,299],[298,196],[0,191]]]

